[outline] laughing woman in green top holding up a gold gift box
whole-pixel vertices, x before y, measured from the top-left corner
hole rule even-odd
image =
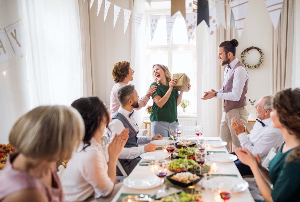
[[[177,106],[180,105],[183,92],[178,93],[173,89],[177,84],[177,79],[171,79],[168,67],[162,64],[155,64],[152,67],[154,81],[157,89],[152,94],[153,106],[150,115],[152,136],[161,134],[169,137],[170,128],[178,125]],[[190,85],[188,85],[190,90]]]

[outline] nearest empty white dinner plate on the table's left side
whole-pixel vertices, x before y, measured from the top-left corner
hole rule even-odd
[[[123,180],[123,184],[133,189],[150,189],[161,185],[161,179],[154,174],[129,175]]]

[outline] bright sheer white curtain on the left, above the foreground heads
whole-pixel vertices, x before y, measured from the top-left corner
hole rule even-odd
[[[70,105],[83,95],[78,1],[22,6],[30,105]]]

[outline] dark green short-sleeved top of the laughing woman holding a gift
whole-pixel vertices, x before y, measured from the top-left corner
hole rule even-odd
[[[156,82],[151,84],[156,85],[157,89],[155,93],[152,95],[152,99],[155,95],[163,97],[167,91],[169,90],[170,86],[158,85]],[[167,121],[167,122],[174,122],[178,121],[177,119],[177,98],[179,94],[177,90],[173,90],[168,101],[162,108],[160,108],[156,103],[153,101],[152,105],[152,113],[150,115],[151,122],[153,121]]]

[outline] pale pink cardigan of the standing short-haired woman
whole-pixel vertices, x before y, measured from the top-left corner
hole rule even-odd
[[[110,93],[110,115],[113,116],[114,113],[116,113],[116,111],[118,111],[118,109],[120,108],[120,103],[117,99],[117,92],[118,89],[123,86],[126,85],[125,83],[122,82],[118,82],[113,86],[112,92]],[[143,96],[140,97],[139,99],[139,108],[136,108],[135,110],[139,110],[140,108],[146,106],[147,102],[149,101],[149,98],[147,96]]]

